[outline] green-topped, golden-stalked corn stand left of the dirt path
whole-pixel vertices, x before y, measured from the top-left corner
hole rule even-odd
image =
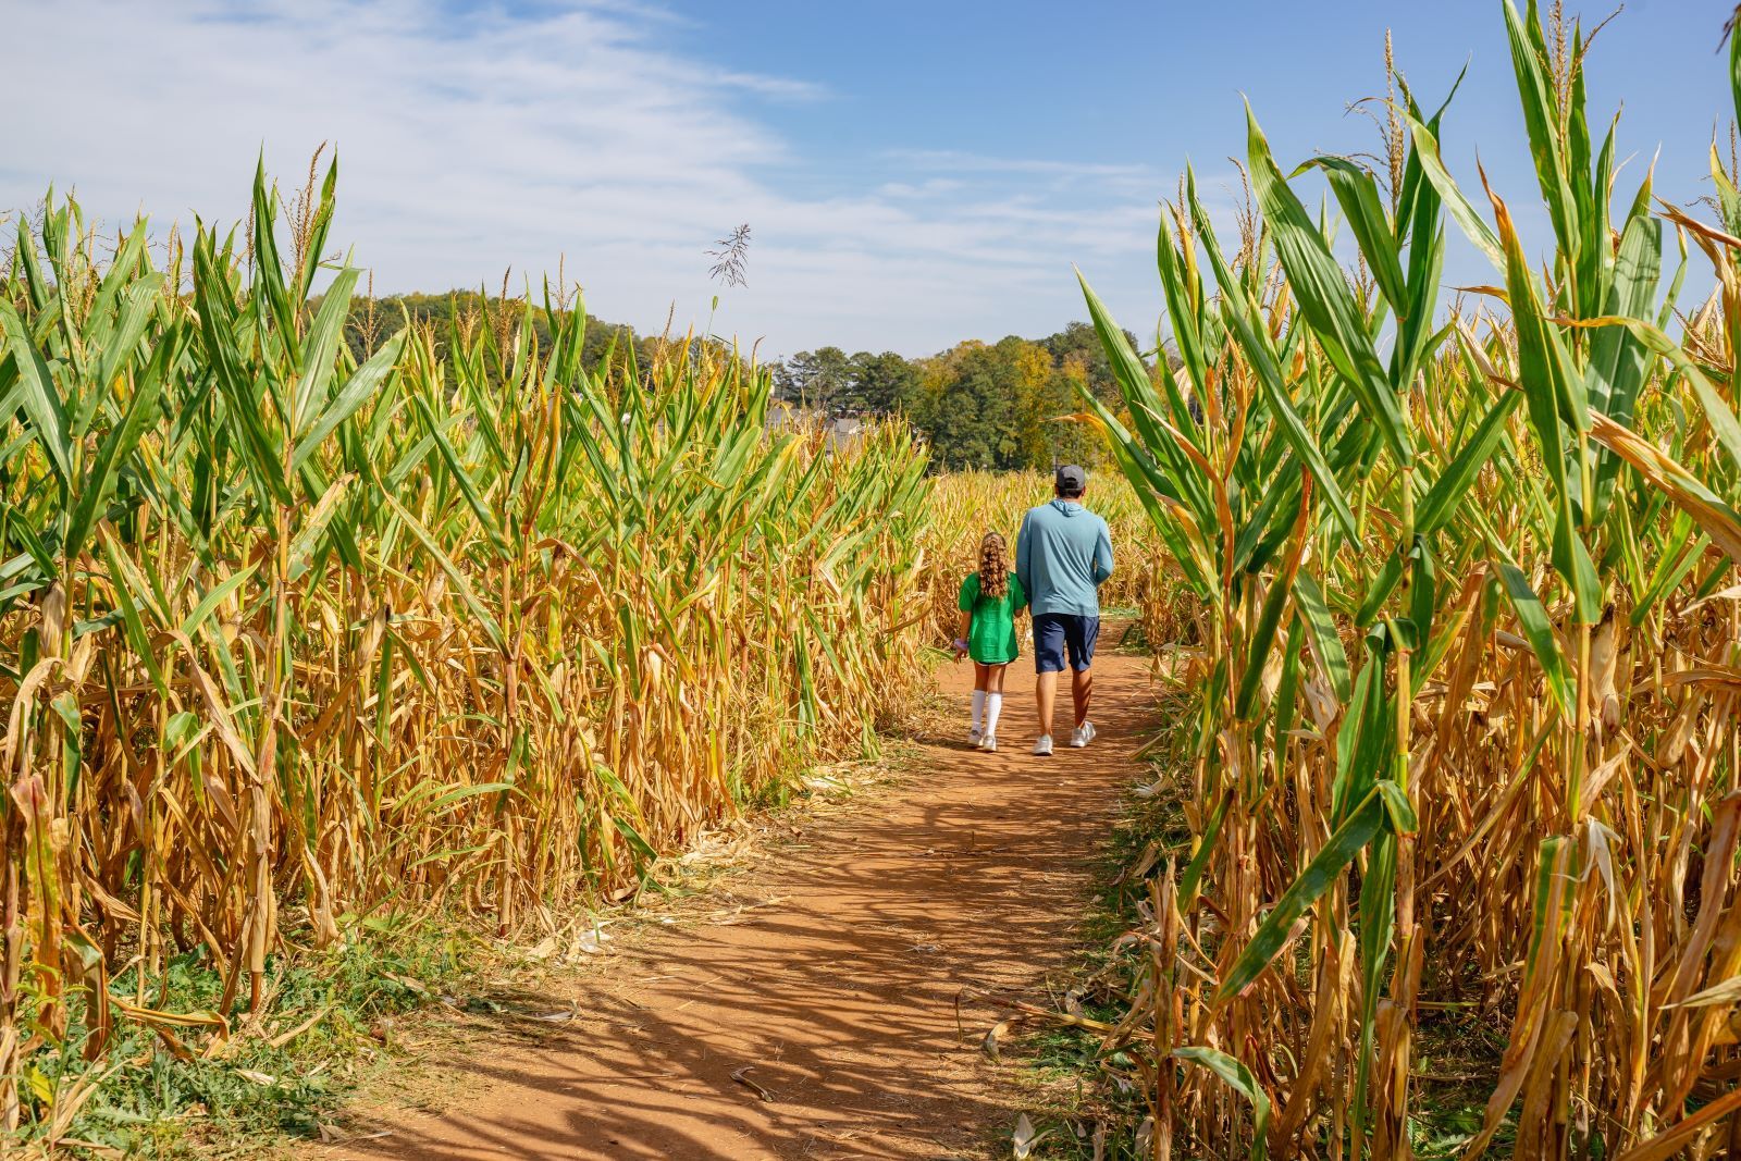
[[[192,244],[50,195],[3,268],[7,1128],[33,1051],[211,1051],[371,914],[622,896],[912,679],[904,430],[773,430],[714,345],[583,372],[566,287],[353,357],[334,179]]]

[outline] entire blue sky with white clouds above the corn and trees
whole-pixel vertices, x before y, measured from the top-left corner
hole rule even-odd
[[[1657,150],[1659,193],[1708,191],[1725,9],[1631,0],[1598,38],[1623,197]],[[1046,334],[1083,315],[1072,265],[1153,332],[1156,202],[1184,164],[1229,214],[1241,94],[1285,167],[1377,148],[1346,106],[1382,92],[1386,28],[1424,101],[1469,66],[1449,160],[1475,193],[1480,146],[1544,244],[1497,0],[0,0],[0,21],[80,49],[12,57],[56,96],[7,127],[0,209],[54,181],[110,225],[233,219],[258,150],[294,185],[334,141],[334,238],[376,291],[519,285],[561,256],[601,317],[766,355]],[[714,287],[705,249],[738,223],[749,285]],[[1447,280],[1490,272],[1455,245]]]

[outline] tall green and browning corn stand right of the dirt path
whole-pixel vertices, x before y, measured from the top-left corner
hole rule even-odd
[[[1196,837],[1104,1044],[1144,1156],[1412,1156],[1443,1097],[1421,1039],[1483,1027],[1462,1158],[1741,1147],[1741,193],[1715,150],[1713,221],[1649,172],[1617,190],[1583,30],[1504,21],[1539,268],[1523,195],[1454,181],[1445,108],[1396,77],[1388,172],[1301,167],[1334,226],[1255,115],[1236,245],[1186,178],[1177,366],[1151,376],[1088,292],[1128,404],[1099,418],[1198,641]],[[1455,303],[1447,230],[1494,268]],[[1691,263],[1717,285],[1682,312]]]

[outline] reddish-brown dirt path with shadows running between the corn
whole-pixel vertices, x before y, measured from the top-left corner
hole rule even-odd
[[[1010,679],[999,754],[966,748],[963,708],[898,785],[733,884],[763,905],[634,940],[573,982],[581,1018],[547,1043],[446,1062],[447,1112],[320,1156],[984,1156],[1020,1098],[978,1050],[984,1008],[958,1036],[956,994],[1032,989],[1065,961],[1153,705],[1147,661],[1107,651],[1100,736],[1036,759],[1027,658]],[[942,684],[965,707],[971,667]]]

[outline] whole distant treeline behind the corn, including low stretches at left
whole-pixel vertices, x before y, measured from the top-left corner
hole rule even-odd
[[[430,325],[442,352],[454,332],[465,338],[489,327],[512,334],[522,312],[519,299],[503,301],[477,291],[359,296],[352,303],[346,338],[360,355],[409,319]],[[550,325],[543,312],[533,312],[531,322],[540,343],[548,346]],[[637,334],[627,324],[588,319],[581,366],[595,371],[606,357],[627,366],[632,357],[648,369],[663,343],[669,339]],[[1060,416],[1083,409],[1079,386],[1104,400],[1118,399],[1106,352],[1086,322],[1072,322],[1043,339],[968,339],[923,359],[895,352],[848,355],[839,346],[822,346],[773,362],[768,371],[782,402],[815,414],[904,414],[930,444],[933,465],[947,470],[1100,461],[1106,458],[1100,437]]]

